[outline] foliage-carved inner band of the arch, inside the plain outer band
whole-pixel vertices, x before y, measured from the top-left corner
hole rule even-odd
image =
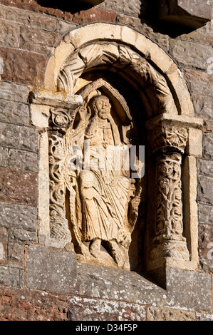
[[[95,66],[124,68],[137,85],[145,89],[154,115],[177,115],[177,108],[167,81],[145,58],[128,46],[102,42],[83,46],[72,54],[58,76],[58,89],[73,92],[81,74]]]

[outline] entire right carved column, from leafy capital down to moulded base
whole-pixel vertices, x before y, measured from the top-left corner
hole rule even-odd
[[[149,262],[156,268],[167,259],[189,260],[183,236],[181,180],[187,130],[160,123],[150,130],[148,139],[155,155],[155,215]]]

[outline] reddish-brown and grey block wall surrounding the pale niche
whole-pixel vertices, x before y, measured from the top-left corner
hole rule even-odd
[[[0,4],[0,319],[213,320],[213,21],[191,32],[171,29],[157,24],[145,0],[105,0],[77,12],[64,6]],[[179,270],[168,273],[165,290],[136,273],[85,267],[74,254],[38,243],[38,130],[28,93],[43,87],[63,33],[93,21],[130,26],[158,43],[180,66],[195,115],[204,119],[203,157],[197,159],[200,264],[197,272],[184,272],[184,290]]]

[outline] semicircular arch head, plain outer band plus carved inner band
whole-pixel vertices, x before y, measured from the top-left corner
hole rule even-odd
[[[166,113],[194,115],[187,85],[172,58],[150,38],[118,24],[85,24],[66,33],[48,61],[44,86],[73,93],[73,84],[83,71],[104,63],[124,72],[129,64],[133,77],[149,81],[150,91],[165,99],[162,109]],[[146,91],[152,94],[148,87]]]

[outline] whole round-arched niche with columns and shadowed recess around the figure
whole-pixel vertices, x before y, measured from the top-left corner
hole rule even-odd
[[[50,163],[50,170],[54,172],[50,180],[53,186],[49,189],[50,204],[54,208],[48,222],[42,222],[41,218],[41,240],[75,250],[87,261],[88,249],[84,249],[89,245],[85,243],[78,249],[79,241],[75,242],[75,233],[71,232],[68,203],[71,194],[67,185],[73,180],[71,175],[69,181],[64,175],[63,162],[69,159],[64,150],[80,115],[88,114],[89,100],[95,95],[107,96],[115,125],[125,129],[131,125],[137,138],[131,144],[145,145],[146,172],[142,182],[136,184],[140,185],[140,196],[135,198],[136,220],[128,230],[127,264],[115,262],[116,257],[114,262],[107,262],[103,253],[103,259],[98,258],[99,254],[96,262],[95,259],[88,262],[94,260],[96,264],[136,270],[141,269],[142,263],[146,271],[155,271],[166,264],[195,269],[198,262],[196,156],[202,155],[202,151],[194,150],[194,145],[201,148],[202,120],[194,118],[187,85],[172,58],[156,43],[129,27],[86,24],[66,33],[58,43],[48,61],[44,85],[46,97],[51,96],[52,102],[56,99],[52,103],[54,108],[49,111],[47,137],[51,141],[48,156],[54,162],[57,158],[57,165],[54,171]],[[32,101],[38,105],[42,99],[40,93],[36,94]],[[76,108],[73,101],[79,96],[82,105]],[[44,104],[51,105],[48,98],[45,99]],[[127,132],[123,138],[127,140]],[[55,153],[60,154],[55,157]],[[54,176],[58,177],[56,183]],[[76,193],[79,187],[74,187]],[[80,198],[73,206],[79,204]],[[40,212],[42,217],[42,209]],[[79,217],[82,214],[80,211]],[[51,220],[59,230],[67,226],[64,232],[63,228],[57,232],[57,228],[54,236]],[[78,236],[78,232],[76,234]],[[102,247],[112,256],[112,245],[103,243]]]

